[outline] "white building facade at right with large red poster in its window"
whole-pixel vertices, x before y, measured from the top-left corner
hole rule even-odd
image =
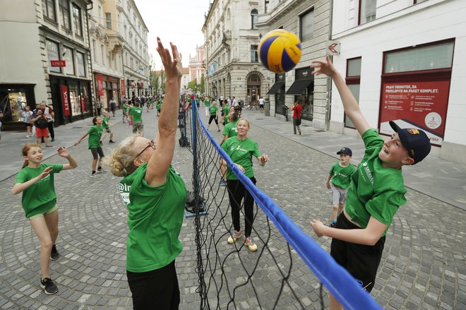
[[[466,163],[466,6],[461,0],[345,0],[333,6],[336,68],[369,124],[426,131],[431,155]],[[317,78],[316,78],[317,79]],[[330,130],[357,136],[332,93]]]

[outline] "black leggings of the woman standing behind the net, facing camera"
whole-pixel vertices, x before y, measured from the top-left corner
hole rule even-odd
[[[256,178],[250,178],[253,184],[256,184]],[[252,225],[254,221],[254,198],[239,180],[227,180],[229,204],[232,206],[232,221],[234,230],[239,232],[239,210],[241,209],[241,200],[244,198],[244,236],[251,236]]]

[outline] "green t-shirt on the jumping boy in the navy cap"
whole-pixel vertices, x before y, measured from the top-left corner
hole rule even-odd
[[[366,131],[362,139],[366,150],[356,172],[351,175],[345,210],[362,228],[367,227],[371,216],[390,227],[396,211],[406,203],[402,171],[382,166],[378,153],[383,139],[374,129]]]

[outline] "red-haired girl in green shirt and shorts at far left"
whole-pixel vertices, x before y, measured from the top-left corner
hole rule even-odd
[[[42,163],[44,158],[39,144],[29,143],[23,147],[25,159],[23,169],[15,179],[11,193],[23,192],[21,203],[26,217],[40,241],[40,286],[45,294],[55,294],[58,287],[50,278],[50,260],[59,258],[55,242],[59,234],[58,210],[56,208],[56,193],[54,174],[61,170],[78,167],[76,160],[66,148],[56,150],[60,157],[68,160],[65,165],[49,165]]]

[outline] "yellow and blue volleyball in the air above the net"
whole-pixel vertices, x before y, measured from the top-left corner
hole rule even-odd
[[[301,41],[293,32],[272,30],[262,38],[258,54],[268,70],[275,73],[287,72],[301,59]]]

